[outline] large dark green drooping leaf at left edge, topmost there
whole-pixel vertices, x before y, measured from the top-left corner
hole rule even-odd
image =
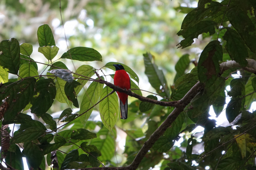
[[[0,43],[0,64],[9,73],[18,74],[20,66],[20,45],[17,39],[4,40]]]

